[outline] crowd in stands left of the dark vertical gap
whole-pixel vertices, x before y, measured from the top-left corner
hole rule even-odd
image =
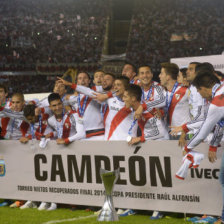
[[[0,68],[35,69],[36,62],[97,62],[109,4],[103,0],[3,0]]]

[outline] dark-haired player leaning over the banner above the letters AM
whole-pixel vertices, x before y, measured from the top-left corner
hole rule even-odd
[[[52,132],[48,133],[46,137],[57,138],[58,144],[69,144],[75,140],[85,138],[83,122],[74,111],[64,112],[59,94],[50,94],[48,101],[54,115],[48,119],[48,125]]]

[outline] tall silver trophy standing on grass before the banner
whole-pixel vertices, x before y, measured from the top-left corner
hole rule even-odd
[[[107,171],[100,169],[101,179],[105,187],[105,200],[101,212],[98,216],[98,221],[118,221],[118,215],[113,204],[113,188],[119,175],[120,169],[114,171]]]

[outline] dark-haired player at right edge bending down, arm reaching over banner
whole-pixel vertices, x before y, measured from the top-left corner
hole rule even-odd
[[[224,85],[219,84],[218,78],[210,72],[199,72],[193,81],[198,92],[203,98],[210,101],[210,106],[204,123],[200,130],[194,135],[191,141],[186,145],[185,151],[190,153],[200,144],[212,131],[217,123],[224,122]],[[210,162],[216,160],[216,151],[209,151],[208,158]],[[224,156],[220,168],[220,182],[222,184],[222,193],[224,196]],[[221,222],[224,222],[224,206],[222,210]]]

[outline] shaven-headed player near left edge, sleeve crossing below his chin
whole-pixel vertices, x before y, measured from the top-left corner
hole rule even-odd
[[[12,96],[10,109],[15,112],[21,112],[25,104],[24,96],[15,93]],[[26,136],[29,124],[19,118],[2,117],[1,118],[1,136],[5,139],[22,139]]]

